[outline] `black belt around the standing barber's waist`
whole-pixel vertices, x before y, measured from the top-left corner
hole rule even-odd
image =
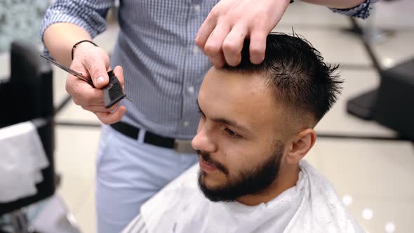
[[[126,135],[129,138],[135,140],[138,139],[138,134],[140,133],[140,128],[131,126],[130,124],[124,122],[116,122],[111,124],[111,127],[114,128],[119,133]],[[180,140],[175,138],[163,137],[161,135],[156,135],[149,131],[145,132],[144,142],[147,144],[155,145],[157,147],[165,147],[170,149],[175,149],[177,152],[181,153],[194,153],[195,150],[191,146],[191,140]]]

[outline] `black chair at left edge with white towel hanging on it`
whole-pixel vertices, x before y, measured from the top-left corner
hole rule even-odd
[[[25,229],[27,219],[19,210],[51,197],[55,192],[53,72],[32,46],[15,41],[11,45],[11,76],[5,80],[0,82],[0,128],[32,121],[50,164],[41,171],[44,180],[36,185],[36,194],[0,203],[0,218],[8,213],[15,225],[14,232],[29,232]]]

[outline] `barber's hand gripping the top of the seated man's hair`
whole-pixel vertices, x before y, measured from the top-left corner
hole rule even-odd
[[[221,0],[196,35],[196,44],[215,67],[241,62],[244,39],[250,38],[250,60],[265,59],[267,34],[281,20],[289,0]]]

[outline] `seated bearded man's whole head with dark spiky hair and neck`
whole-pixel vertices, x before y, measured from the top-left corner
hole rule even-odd
[[[336,67],[298,36],[267,36],[260,65],[250,62],[248,41],[241,54],[240,65],[206,74],[192,145],[206,197],[255,204],[295,185],[298,162],[316,140],[313,128],[341,82],[333,76]]]

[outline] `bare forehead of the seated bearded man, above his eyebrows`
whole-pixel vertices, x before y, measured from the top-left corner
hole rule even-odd
[[[280,123],[281,105],[267,79],[260,74],[241,74],[214,67],[206,74],[199,92],[201,111],[210,118],[237,121],[260,131]]]

